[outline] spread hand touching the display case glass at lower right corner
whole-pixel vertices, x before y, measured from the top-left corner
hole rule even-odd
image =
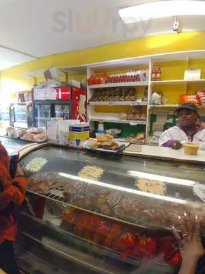
[[[195,221],[185,221],[182,229],[182,237],[173,227],[174,236],[178,242],[178,247],[182,253],[182,260],[186,262],[197,262],[205,255],[200,238],[200,222],[197,217]]]

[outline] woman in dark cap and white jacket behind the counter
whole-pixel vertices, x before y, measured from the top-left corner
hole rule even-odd
[[[176,110],[179,123],[167,129],[159,140],[160,147],[180,149],[181,142],[205,142],[205,127],[198,125],[199,114],[193,103],[184,103]]]

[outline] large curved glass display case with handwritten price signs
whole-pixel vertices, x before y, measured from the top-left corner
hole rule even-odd
[[[178,273],[172,226],[180,231],[197,215],[204,234],[205,164],[51,145],[20,163],[29,186],[20,242],[32,242],[40,260],[48,252],[64,260],[59,273],[70,262],[83,273]]]

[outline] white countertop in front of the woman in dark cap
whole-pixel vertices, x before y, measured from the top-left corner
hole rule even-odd
[[[167,147],[153,147],[143,145],[139,152],[139,145],[130,145],[124,149],[123,154],[137,155],[146,158],[161,158],[165,160],[174,160],[180,162],[195,162],[205,164],[205,151],[199,151],[197,155],[185,155],[184,149],[174,150]]]

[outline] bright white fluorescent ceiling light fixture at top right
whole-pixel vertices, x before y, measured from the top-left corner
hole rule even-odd
[[[205,15],[205,1],[158,1],[122,8],[119,14],[126,24],[170,16]]]

